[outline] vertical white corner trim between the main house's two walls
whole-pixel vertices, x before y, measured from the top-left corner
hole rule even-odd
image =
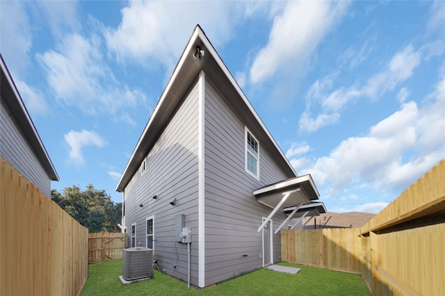
[[[204,216],[204,115],[205,115],[205,73],[199,76],[199,121],[198,121],[198,286],[205,286],[205,216]]]

